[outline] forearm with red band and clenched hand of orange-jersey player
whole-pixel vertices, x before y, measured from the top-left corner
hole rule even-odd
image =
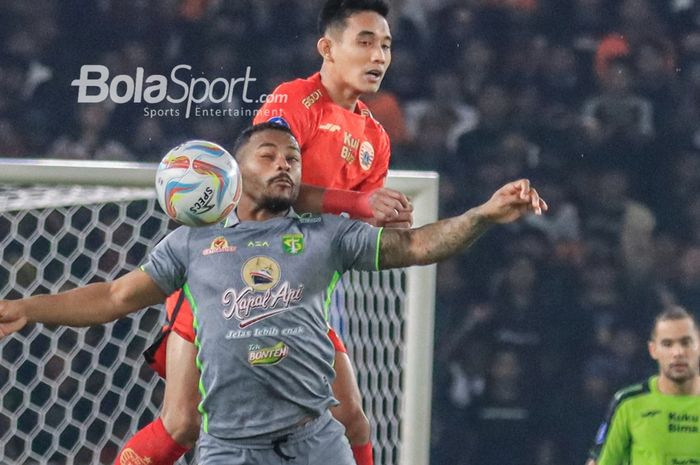
[[[399,191],[380,188],[355,192],[302,184],[294,204],[299,212],[349,213],[351,217],[371,220],[376,226],[410,227],[413,206]]]

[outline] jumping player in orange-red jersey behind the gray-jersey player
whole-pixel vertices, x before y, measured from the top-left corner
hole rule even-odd
[[[382,0],[329,0],[319,16],[320,72],[278,86],[254,123],[287,125],[302,151],[302,182],[295,209],[347,212],[356,218],[410,226],[411,206],[402,194],[383,188],[390,142],[384,128],[359,100],[379,90],[391,63],[388,6]],[[140,430],[122,449],[116,464],[148,458],[150,465],[172,465],[199,433],[199,373],[189,304],[176,293],[166,303],[169,325],[147,354],[167,383],[160,418]],[[330,329],[336,348],[333,392],[340,405],[333,415],[346,428],[358,465],[373,464],[370,424],[344,344]]]

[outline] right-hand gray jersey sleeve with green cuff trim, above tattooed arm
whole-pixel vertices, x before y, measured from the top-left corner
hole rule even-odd
[[[325,220],[325,219],[324,219]],[[376,228],[362,221],[335,217],[333,250],[337,250],[339,268],[377,271],[379,260],[379,239],[383,228]]]

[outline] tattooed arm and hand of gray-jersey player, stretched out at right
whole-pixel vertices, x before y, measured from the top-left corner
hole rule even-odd
[[[527,179],[508,183],[487,202],[460,216],[418,229],[384,230],[379,246],[379,267],[386,269],[439,262],[469,247],[490,226],[516,221],[530,212],[541,215],[547,208]]]

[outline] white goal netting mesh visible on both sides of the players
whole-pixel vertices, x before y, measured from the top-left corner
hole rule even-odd
[[[0,193],[0,298],[116,278],[141,264],[169,228],[150,189]],[[336,321],[355,361],[377,463],[395,464],[405,273],[352,273],[343,282],[347,309]],[[0,464],[112,463],[159,412],[163,384],[141,353],[162,320],[149,309],[105,326],[35,325],[0,340]]]

